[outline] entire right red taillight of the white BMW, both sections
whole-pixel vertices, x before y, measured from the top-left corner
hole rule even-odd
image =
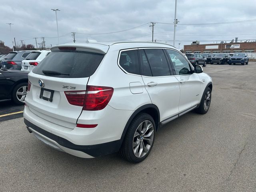
[[[65,91],[68,102],[83,106],[83,110],[102,110],[110,101],[114,92],[112,87],[87,86],[86,91]]]

